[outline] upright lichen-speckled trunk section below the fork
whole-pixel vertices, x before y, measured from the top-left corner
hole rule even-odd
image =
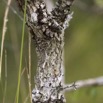
[[[36,87],[33,90],[33,100],[39,98],[40,103],[56,103],[61,100],[63,103],[63,34],[46,40],[36,41],[38,55],[38,68],[36,75]],[[62,99],[61,99],[62,98]],[[42,101],[42,102],[41,102]]]

